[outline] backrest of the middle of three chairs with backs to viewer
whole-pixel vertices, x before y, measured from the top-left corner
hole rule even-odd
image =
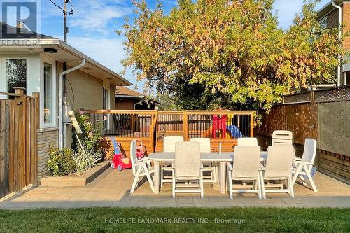
[[[260,146],[235,146],[232,178],[257,178]]]

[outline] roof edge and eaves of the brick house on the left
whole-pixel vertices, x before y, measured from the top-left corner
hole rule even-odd
[[[1,22],[2,30],[6,29],[7,26],[7,24]],[[17,27],[8,26],[7,29],[15,32]],[[111,69],[88,57],[83,52],[52,36],[37,33],[6,34],[5,38],[0,38],[0,48],[1,52],[44,52],[45,48],[55,48],[57,53],[50,55],[59,62],[66,62],[69,66],[77,66],[81,63],[81,59],[85,59],[86,64],[81,68],[85,73],[90,73],[97,78],[106,78],[106,80],[110,80],[115,85],[132,85],[118,73],[111,71]]]

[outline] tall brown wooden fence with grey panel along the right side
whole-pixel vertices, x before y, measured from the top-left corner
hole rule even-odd
[[[255,134],[267,142],[274,130],[290,130],[297,155],[305,138],[316,139],[318,171],[350,184],[350,86],[291,94],[283,102],[264,115]]]

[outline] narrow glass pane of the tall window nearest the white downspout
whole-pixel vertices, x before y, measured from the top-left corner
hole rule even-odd
[[[44,124],[52,123],[52,64],[44,62],[43,66],[43,108]]]

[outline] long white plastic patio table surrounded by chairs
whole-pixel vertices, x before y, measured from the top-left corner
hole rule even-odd
[[[220,163],[220,192],[226,192],[226,163],[233,162],[235,157],[234,152],[223,152],[219,153],[200,153],[200,162],[219,162]],[[264,161],[267,158],[267,152],[262,151],[260,160]],[[161,162],[175,162],[174,152],[156,152],[148,155],[148,159],[154,162],[154,183],[155,193],[159,193],[160,185],[160,163]]]

